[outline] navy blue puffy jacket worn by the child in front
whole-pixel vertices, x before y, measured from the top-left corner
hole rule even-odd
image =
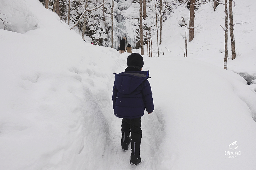
[[[115,74],[113,87],[113,109],[119,118],[139,118],[144,110],[154,110],[149,71],[126,71]]]

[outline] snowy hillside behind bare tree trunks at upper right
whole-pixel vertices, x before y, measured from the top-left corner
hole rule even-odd
[[[231,43],[228,31],[228,70],[240,74],[248,82],[256,79],[256,4],[251,0],[234,1],[233,19],[234,36],[237,57],[231,60]],[[189,10],[185,5],[175,9],[172,17],[164,22],[163,43],[160,51],[171,56],[184,56],[185,27],[180,27],[181,16],[189,25]],[[187,44],[187,57],[206,61],[223,68],[224,53],[224,5],[220,4],[216,11],[213,10],[212,1],[201,6],[195,12],[195,37]],[[248,22],[247,24],[239,24]],[[189,31],[187,30],[187,37]],[[154,49],[157,49],[156,47]]]

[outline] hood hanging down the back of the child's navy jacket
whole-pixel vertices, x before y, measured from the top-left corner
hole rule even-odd
[[[115,74],[115,86],[121,94],[131,94],[149,77],[149,71],[125,71]]]

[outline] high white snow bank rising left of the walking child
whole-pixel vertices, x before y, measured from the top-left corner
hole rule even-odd
[[[38,1],[26,2],[40,27],[0,29],[1,168],[97,167],[85,158],[102,159],[119,53],[85,43]]]

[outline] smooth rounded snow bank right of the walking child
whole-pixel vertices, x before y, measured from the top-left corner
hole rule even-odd
[[[245,80],[188,58],[144,59],[155,104],[143,122],[152,169],[254,169],[256,93]],[[230,150],[234,141],[239,147]]]

